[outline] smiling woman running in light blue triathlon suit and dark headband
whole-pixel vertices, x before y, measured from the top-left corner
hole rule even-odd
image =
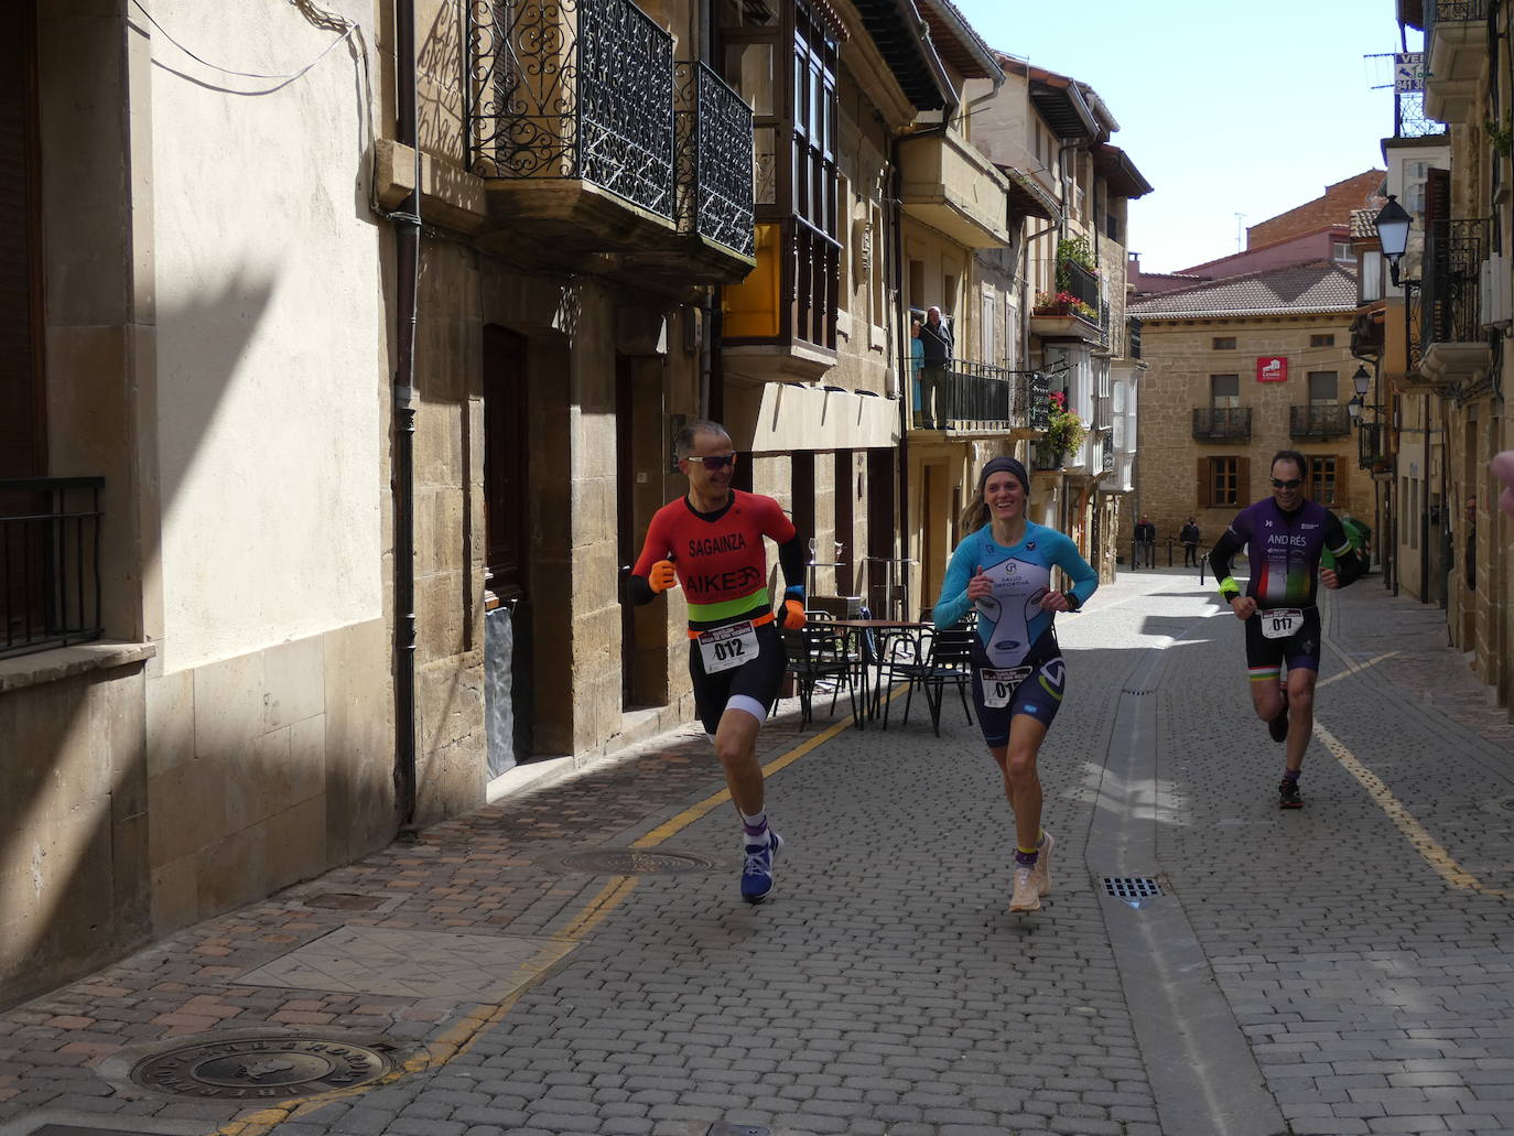
[[[1066,689],[1057,647],[1057,612],[1078,610],[1099,577],[1078,547],[1025,517],[1030,477],[1013,457],[995,457],[978,476],[978,500],[963,513],[967,538],[957,545],[931,615],[951,627],[978,610],[972,651],[972,695],[989,753],[1004,774],[1014,812],[1011,912],[1033,912],[1051,892],[1051,833],[1042,830],[1042,789],[1036,756]],[[1051,570],[1072,588],[1051,591]]]

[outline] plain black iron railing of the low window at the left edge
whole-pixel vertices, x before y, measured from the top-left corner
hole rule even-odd
[[[0,659],[101,636],[103,492],[103,477],[0,479]]]

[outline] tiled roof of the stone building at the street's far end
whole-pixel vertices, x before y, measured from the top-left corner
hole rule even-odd
[[[1299,315],[1357,309],[1355,265],[1328,261],[1231,276],[1139,300],[1126,307],[1142,320],[1222,315]]]

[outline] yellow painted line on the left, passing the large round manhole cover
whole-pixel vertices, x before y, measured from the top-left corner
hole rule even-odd
[[[895,694],[898,694],[898,691],[890,692],[887,697],[893,698]],[[819,748],[842,730],[851,729],[851,718],[842,718],[839,722],[827,727],[802,745],[796,745],[783,756],[768,762],[762,766],[763,779],[768,779],[780,769],[786,769],[793,765],[796,760]],[[631,847],[654,848],[730,800],[730,789],[721,789],[719,792],[706,797],[698,804],[689,806],[672,819],[657,825],[645,836],[637,838],[631,842]],[[578,941],[598,927],[610,912],[619,907],[634,889],[636,880],[633,877],[616,875],[583,906],[583,910],[580,910],[562,932],[553,938],[560,942],[577,945]],[[266,1136],[266,1133],[273,1131],[274,1127],[283,1124],[285,1121],[307,1116],[318,1109],[324,1109],[333,1101],[347,1100],[350,1097],[362,1097],[372,1089],[392,1085],[401,1077],[421,1072],[422,1069],[435,1069],[447,1065],[454,1057],[468,1053],[468,1050],[472,1048],[486,1030],[497,1025],[512,1009],[515,1009],[515,1004],[525,995],[525,992],[540,982],[542,975],[547,974],[553,963],[566,957],[569,950],[571,947],[568,950],[542,948],[537,951],[536,956],[524,966],[524,969],[531,971],[530,977],[510,991],[503,1001],[494,1006],[481,1006],[472,1013],[465,1015],[444,1035],[431,1042],[427,1042],[424,1050],[406,1060],[403,1066],[392,1069],[378,1080],[369,1081],[368,1085],[359,1085],[351,1089],[322,1092],[316,1097],[301,1097],[289,1101],[286,1106],[263,1109],[262,1112],[256,1112],[245,1119],[221,1125],[212,1133],[212,1136]]]

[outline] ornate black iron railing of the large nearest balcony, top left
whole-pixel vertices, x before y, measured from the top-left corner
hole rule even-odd
[[[672,36],[631,0],[472,0],[484,177],[590,182],[674,215]]]

